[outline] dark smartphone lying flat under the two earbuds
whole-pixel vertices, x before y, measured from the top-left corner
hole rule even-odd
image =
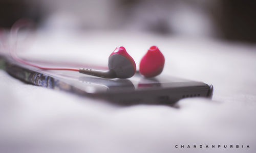
[[[28,84],[105,99],[116,105],[173,105],[187,97],[208,97],[213,86],[160,74],[144,78],[136,72],[129,79],[103,79],[76,71],[41,70],[0,58],[1,68]]]

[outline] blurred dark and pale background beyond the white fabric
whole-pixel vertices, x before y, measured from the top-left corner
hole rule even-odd
[[[146,32],[256,42],[256,2],[239,0],[0,0],[0,27],[32,19],[52,31]]]

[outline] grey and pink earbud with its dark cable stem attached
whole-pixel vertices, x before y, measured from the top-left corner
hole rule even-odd
[[[109,70],[93,70],[80,68],[79,72],[101,78],[131,78],[136,72],[136,64],[125,48],[117,47],[109,57]]]

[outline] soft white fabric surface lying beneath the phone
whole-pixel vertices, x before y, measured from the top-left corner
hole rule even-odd
[[[186,98],[178,108],[117,107],[27,85],[0,70],[0,152],[256,151],[255,45],[120,32],[40,34],[19,55],[106,65],[119,45],[137,66],[146,49],[157,45],[166,59],[163,73],[214,85],[212,100]],[[230,144],[240,148],[223,148]]]

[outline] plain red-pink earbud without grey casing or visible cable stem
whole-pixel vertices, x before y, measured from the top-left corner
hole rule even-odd
[[[140,61],[140,74],[146,78],[155,77],[163,71],[164,56],[157,46],[151,46]]]

